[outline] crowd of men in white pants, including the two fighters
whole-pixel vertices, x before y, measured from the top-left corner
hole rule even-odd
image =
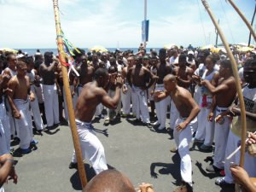
[[[256,56],[253,52],[233,52],[243,86],[247,111],[247,131],[256,131]],[[224,53],[208,49],[139,49],[121,52],[74,50],[69,85],[75,109],[83,157],[96,173],[108,169],[102,143],[93,132],[91,120],[104,124],[134,118],[133,123],[157,131],[173,131],[181,157],[182,185],[176,191],[192,191],[189,143],[201,151],[215,150],[207,172],[220,172],[218,185],[234,183],[225,157],[241,142],[241,110],[230,60]],[[58,55],[39,51],[35,55],[0,53],[0,155],[11,152],[11,139],[18,140],[20,152],[31,152],[38,142],[33,131],[49,131],[68,122]],[[79,75],[78,75],[79,74]],[[107,108],[107,114],[102,112]],[[150,108],[150,112],[148,110]],[[166,122],[166,114],[170,122]],[[156,121],[150,122],[150,119]],[[169,126],[170,124],[170,126]],[[33,130],[34,129],[34,130]],[[230,162],[239,162],[240,152]],[[77,167],[73,154],[70,168]],[[245,170],[256,177],[256,158],[246,154]],[[184,190],[185,189],[185,190]]]

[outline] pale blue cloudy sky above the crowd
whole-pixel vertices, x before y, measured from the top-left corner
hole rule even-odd
[[[251,22],[255,0],[234,2]],[[230,3],[208,3],[227,40],[247,43],[247,26]],[[59,0],[59,5],[61,27],[77,47],[116,48],[118,42],[119,47],[138,47],[141,43],[144,0]],[[148,20],[148,47],[215,43],[214,26],[201,0],[148,0]],[[51,0],[0,0],[0,25],[0,47],[56,47]]]

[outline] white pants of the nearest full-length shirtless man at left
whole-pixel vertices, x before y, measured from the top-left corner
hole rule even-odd
[[[29,111],[29,101],[22,99],[15,99],[15,106],[20,112],[20,119],[15,119],[17,125],[19,125],[20,148],[29,148],[30,142],[32,141],[32,116]]]

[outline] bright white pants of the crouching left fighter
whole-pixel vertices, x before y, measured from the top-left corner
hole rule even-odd
[[[92,130],[93,126],[91,123],[82,122],[76,119],[76,124],[83,159],[90,160],[96,174],[108,170],[104,148],[100,140],[96,137],[95,132]],[[77,162],[75,152],[73,152],[72,162]]]

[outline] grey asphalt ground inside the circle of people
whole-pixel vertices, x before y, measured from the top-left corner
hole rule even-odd
[[[144,182],[152,183],[155,192],[176,189],[181,183],[180,158],[178,154],[170,152],[170,148],[175,146],[172,132],[159,132],[144,125],[133,125],[133,119],[120,120],[121,122],[108,126],[103,125],[104,119],[94,123],[96,136],[105,148],[109,168],[125,173],[135,188],[138,183]],[[81,191],[79,173],[68,168],[73,154],[69,127],[61,125],[55,130],[43,132],[43,135],[35,135],[35,138],[39,143],[37,147],[32,146],[30,154],[20,154],[17,143],[12,143],[19,178],[17,184],[5,184],[5,191]],[[205,171],[212,153],[202,153],[191,143],[190,155],[195,192],[234,191],[215,185],[218,175]],[[85,170],[88,179],[95,175],[89,164],[85,164]]]

